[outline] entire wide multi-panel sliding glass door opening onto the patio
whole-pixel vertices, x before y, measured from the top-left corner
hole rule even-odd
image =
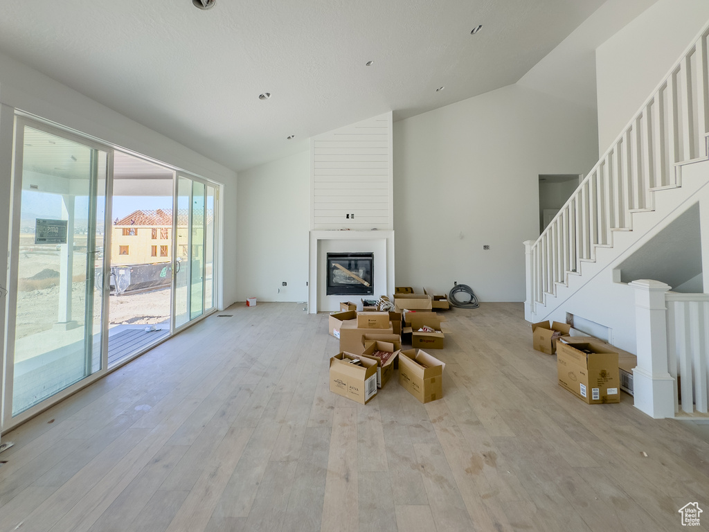
[[[211,182],[32,118],[14,126],[4,429],[213,311],[219,253]]]

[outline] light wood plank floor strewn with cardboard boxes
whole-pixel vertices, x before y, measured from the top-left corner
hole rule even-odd
[[[522,304],[446,314],[425,405],[396,373],[331,393],[326,314],[221,314],[6,434],[0,532],[679,531],[695,501],[709,528],[703,433],[571,396]]]

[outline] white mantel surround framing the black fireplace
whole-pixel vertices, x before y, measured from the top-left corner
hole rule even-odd
[[[310,232],[310,259],[309,259],[309,274],[308,274],[308,313],[316,314],[318,311],[329,311],[332,309],[324,307],[318,297],[321,277],[325,275],[325,257],[320,253],[323,241],[337,240],[341,243],[359,241],[366,243],[372,241],[377,247],[386,250],[384,257],[384,265],[382,265],[382,253],[374,255],[374,296],[376,299],[382,294],[391,294],[394,289],[394,232],[393,231],[311,231]],[[383,269],[383,270],[382,270]],[[379,275],[378,272],[385,272],[384,275]],[[386,286],[380,286],[381,282],[376,282],[376,279],[386,279]],[[342,298],[345,301],[345,298]]]

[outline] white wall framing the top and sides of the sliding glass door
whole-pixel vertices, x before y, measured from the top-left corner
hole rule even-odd
[[[229,208],[230,205],[236,204],[235,172],[2,54],[0,54],[0,103],[6,110],[11,111],[10,108],[15,108],[33,113],[80,133],[92,135],[108,144],[133,150],[223,184],[221,196],[225,205],[223,225],[225,228],[235,226],[235,211]],[[1,126],[4,130],[9,127],[11,131],[11,121],[4,121]],[[6,142],[3,139],[4,137],[0,135],[0,140]],[[2,153],[6,153],[4,149]],[[1,197],[9,196],[10,183],[9,160],[4,158],[0,162]],[[0,228],[7,230],[9,219],[6,211],[3,211],[0,216]],[[233,264],[235,256],[235,240],[225,238],[223,243],[225,263]],[[227,273],[223,282],[225,306],[235,301],[235,294],[235,278]]]

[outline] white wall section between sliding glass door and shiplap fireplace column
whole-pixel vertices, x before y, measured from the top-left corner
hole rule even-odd
[[[238,301],[307,301],[310,150],[240,172],[238,190]]]

